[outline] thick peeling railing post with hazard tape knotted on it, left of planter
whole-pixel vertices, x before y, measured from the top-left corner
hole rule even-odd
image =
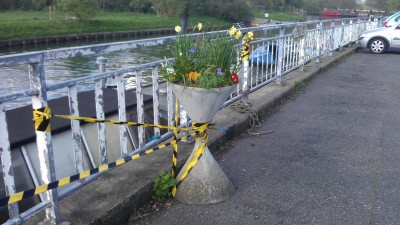
[[[40,62],[29,64],[29,79],[32,89],[39,91],[39,94],[32,97],[33,109],[41,109],[47,106],[46,80],[43,67],[43,59]],[[36,143],[39,156],[40,174],[43,183],[56,181],[54,165],[53,146],[51,134],[46,131],[36,131]],[[60,208],[58,204],[57,189],[49,190],[45,199],[52,202],[52,206],[46,209],[46,220],[48,224],[60,224]]]

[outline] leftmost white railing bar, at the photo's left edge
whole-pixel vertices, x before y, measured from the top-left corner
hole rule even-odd
[[[11,158],[10,140],[8,135],[8,126],[6,112],[4,105],[0,103],[0,154],[1,154],[1,165],[3,168],[3,180],[6,195],[10,196],[16,193],[15,180],[14,180],[14,169]],[[18,204],[14,203],[8,205],[8,214],[10,219],[17,219],[19,216]]]

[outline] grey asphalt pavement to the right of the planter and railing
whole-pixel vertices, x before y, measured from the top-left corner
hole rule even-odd
[[[150,224],[399,224],[400,54],[361,51],[317,76],[220,165],[236,187]]]

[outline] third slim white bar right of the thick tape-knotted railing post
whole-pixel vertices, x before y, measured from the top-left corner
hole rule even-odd
[[[127,121],[126,116],[126,99],[125,99],[125,82],[124,76],[117,76],[117,95],[118,95],[118,119],[119,121]],[[119,125],[119,144],[121,147],[121,156],[128,153],[128,131],[124,125]]]

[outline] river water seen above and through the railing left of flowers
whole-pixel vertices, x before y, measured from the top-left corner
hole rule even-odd
[[[151,37],[148,37],[151,38]],[[128,41],[128,39],[125,39]],[[133,40],[133,39],[129,39]],[[123,41],[123,40],[113,40]],[[112,42],[112,41],[109,41]],[[70,42],[63,44],[52,45],[36,45],[16,47],[12,49],[3,49],[0,55],[16,54],[22,52],[50,50],[61,47],[74,47],[79,45],[90,45],[105,43],[104,41],[98,42]],[[44,62],[46,82],[47,84],[59,83],[73,78],[88,76],[98,72],[98,65],[96,59],[99,56],[108,59],[107,70],[115,70],[128,66],[140,65],[147,62],[157,61],[164,59],[164,57],[171,57],[168,46],[158,45],[144,48],[136,48],[130,50],[121,50],[116,52],[109,52],[102,55],[89,55],[81,57],[72,57],[60,60],[50,60]],[[128,78],[133,75],[126,75]],[[18,65],[15,67],[0,68],[0,96],[4,94],[14,93],[24,89],[29,89],[29,76],[28,65]],[[90,89],[91,85],[80,87],[82,89]],[[59,97],[65,93],[54,92],[49,93],[49,98]],[[26,102],[26,100],[16,101],[14,104]]]

